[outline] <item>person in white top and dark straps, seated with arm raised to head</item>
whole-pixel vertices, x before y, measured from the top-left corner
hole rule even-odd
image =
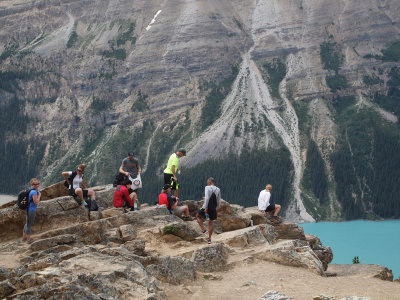
[[[87,198],[88,196],[96,200],[96,196],[93,190],[84,190],[81,188],[81,183],[84,178],[84,172],[85,172],[86,164],[80,164],[75,171],[66,171],[62,172],[62,176],[64,176],[65,180],[68,182],[69,187],[68,187],[68,193],[70,196],[79,197],[81,204],[87,205],[86,201],[84,198]]]

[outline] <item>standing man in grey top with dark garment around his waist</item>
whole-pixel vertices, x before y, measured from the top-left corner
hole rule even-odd
[[[221,190],[215,186],[214,178],[210,177],[207,179],[207,186],[204,189],[204,204],[203,207],[196,214],[197,223],[199,223],[201,230],[203,231],[201,236],[205,236],[208,233],[207,242],[211,244],[211,236],[213,233],[213,221],[217,219],[217,208],[221,203]],[[208,232],[203,224],[203,219],[208,219]]]

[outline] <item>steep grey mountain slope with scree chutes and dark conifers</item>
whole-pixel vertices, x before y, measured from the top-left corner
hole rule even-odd
[[[80,162],[109,183],[134,150],[152,203],[184,146],[185,199],[212,175],[245,206],[271,183],[293,221],[399,217],[399,12],[395,0],[2,1],[1,191]]]

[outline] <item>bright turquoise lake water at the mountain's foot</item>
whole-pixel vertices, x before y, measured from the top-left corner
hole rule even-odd
[[[332,248],[334,264],[378,264],[400,276],[400,220],[318,222],[299,224],[304,233],[320,238]]]

